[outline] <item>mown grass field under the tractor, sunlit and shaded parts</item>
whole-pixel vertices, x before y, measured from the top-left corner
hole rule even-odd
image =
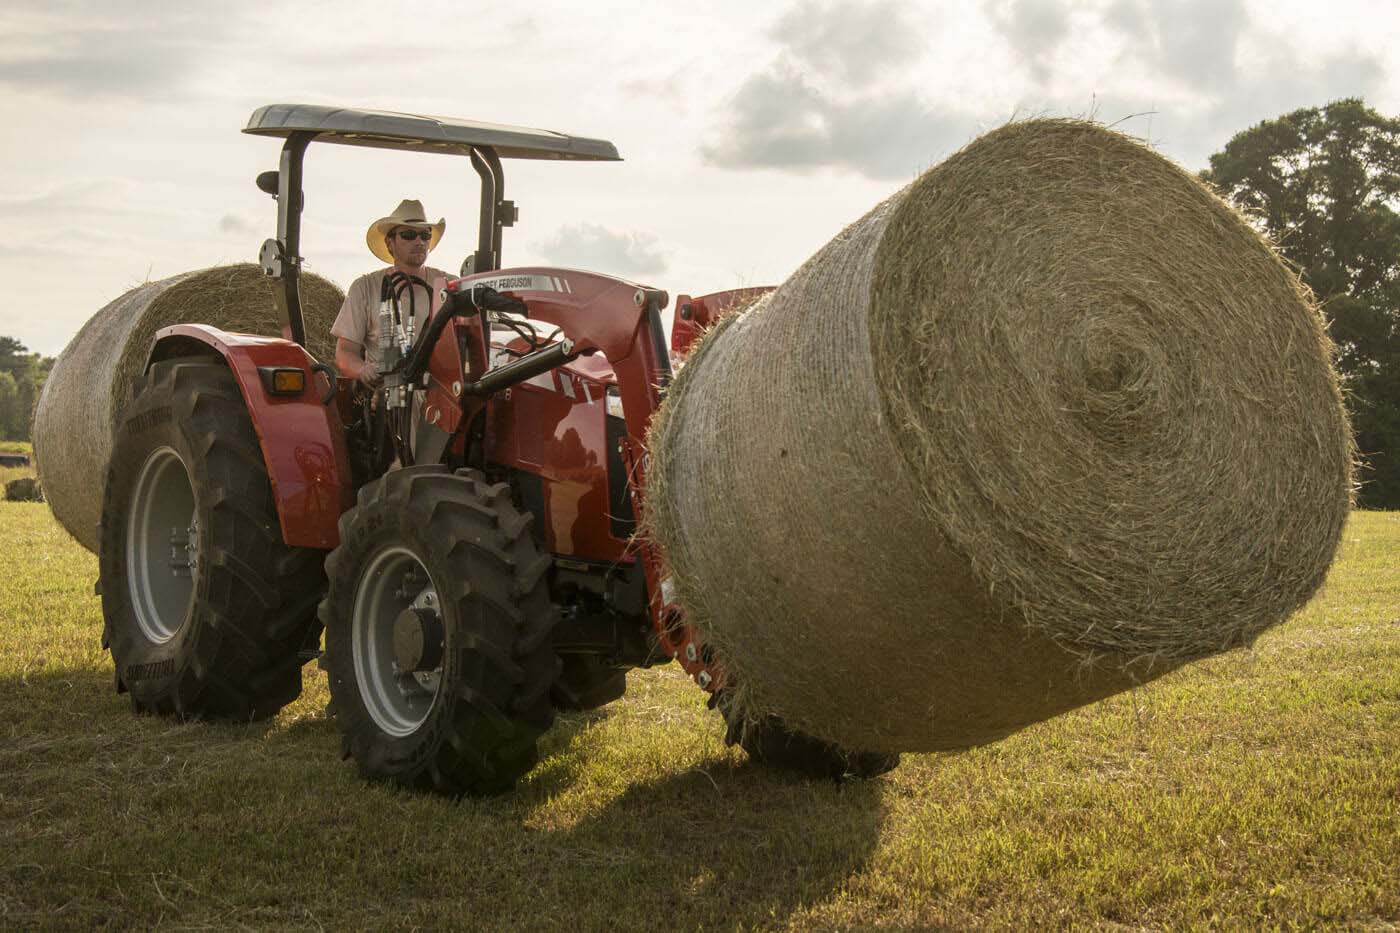
[[[988,748],[774,776],[666,667],[461,803],[363,783],[314,667],[270,724],[133,717],[95,559],[42,504],[0,537],[0,927],[1400,922],[1400,513],[1254,650]]]

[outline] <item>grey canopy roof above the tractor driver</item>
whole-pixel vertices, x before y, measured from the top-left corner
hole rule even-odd
[[[496,150],[501,158],[619,161],[617,148],[602,139],[503,123],[476,123],[449,116],[420,116],[316,104],[269,104],[253,111],[245,133],[290,136],[316,133],[318,143],[371,146],[410,153],[466,156],[472,147]]]

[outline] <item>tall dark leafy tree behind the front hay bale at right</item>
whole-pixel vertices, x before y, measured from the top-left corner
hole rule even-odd
[[[1362,506],[1400,507],[1400,119],[1361,99],[1238,133],[1201,178],[1278,244],[1337,343]]]

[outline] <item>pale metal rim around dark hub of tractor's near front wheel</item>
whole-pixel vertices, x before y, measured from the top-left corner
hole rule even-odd
[[[393,654],[393,622],[405,609],[438,611],[427,567],[406,548],[379,551],[356,590],[351,612],[354,672],[375,726],[403,737],[428,717],[442,682],[442,665],[400,671]]]

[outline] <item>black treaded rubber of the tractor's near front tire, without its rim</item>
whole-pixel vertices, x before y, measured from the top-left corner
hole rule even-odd
[[[330,588],[319,607],[323,667],[343,747],[365,778],[480,796],[510,790],[533,768],[536,741],[553,723],[547,698],[559,660],[549,639],[557,612],[545,574],[532,573],[521,586],[518,569],[540,559],[533,538],[519,534],[528,527],[508,486],[438,465],[392,471],[367,483],[342,517],[342,545],[326,562]],[[353,656],[360,567],[385,535],[416,542],[440,601],[452,607],[456,621],[448,650],[459,679],[442,684],[430,720],[402,742],[382,733],[364,707]]]

